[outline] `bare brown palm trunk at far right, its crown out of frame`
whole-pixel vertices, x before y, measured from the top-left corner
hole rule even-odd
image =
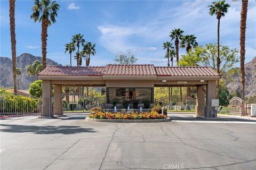
[[[241,84],[242,84],[242,101],[244,105],[245,100],[245,72],[244,72],[244,60],[245,60],[245,30],[246,30],[246,19],[247,19],[247,8],[248,1],[242,1],[241,9],[241,23],[240,23],[240,67],[241,67]],[[242,116],[244,115],[245,110],[242,107]]]

